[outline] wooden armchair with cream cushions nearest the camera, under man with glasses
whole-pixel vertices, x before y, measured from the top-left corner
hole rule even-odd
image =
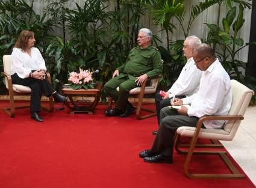
[[[228,115],[204,116],[199,118],[196,127],[179,127],[175,135],[175,149],[179,154],[187,154],[186,162],[184,164],[184,171],[189,178],[245,178],[244,174],[240,172],[233,165],[231,160],[228,159],[226,151],[209,150],[209,148],[223,148],[223,145],[218,142],[232,141],[236,135],[237,129],[243,120],[246,108],[249,105],[254,91],[247,88],[237,80],[231,80],[232,90],[232,105]],[[202,123],[207,120],[226,120],[223,129],[201,129]],[[192,137],[190,144],[180,144],[181,136]],[[196,144],[198,138],[210,139],[213,144]],[[208,148],[208,150],[195,151],[195,148]],[[180,148],[189,148],[189,150],[181,150]],[[239,148],[237,148],[239,150]],[[189,171],[189,165],[192,160],[193,154],[217,154],[226,164],[231,171],[231,174],[193,174]]]

